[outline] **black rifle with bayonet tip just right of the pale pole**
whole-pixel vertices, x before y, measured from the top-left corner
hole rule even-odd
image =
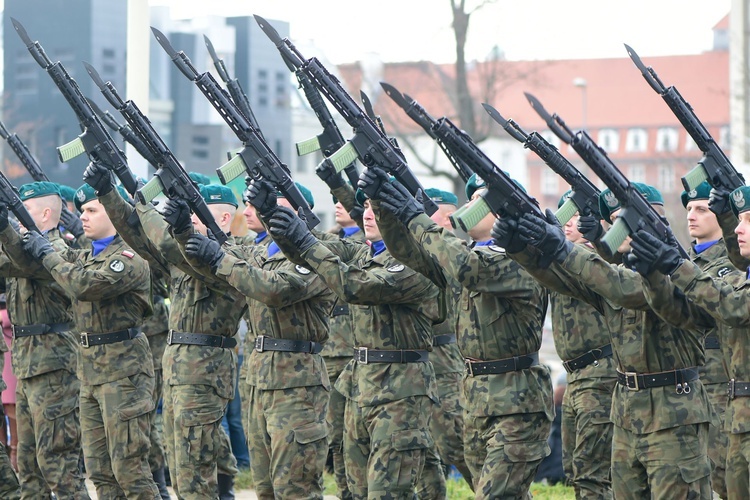
[[[300,218],[306,222],[307,227],[312,229],[317,226],[320,219],[313,213],[310,205],[307,204],[304,196],[294,184],[289,168],[276,156],[276,153],[263,139],[260,131],[253,127],[242,114],[211,73],[198,73],[185,53],[182,51],[178,53],[161,31],[153,27],[151,31],[153,31],[159,45],[169,54],[175,66],[188,80],[198,86],[243,144],[239,153],[216,170],[221,182],[226,184],[239,177],[243,172],[247,172],[253,179],[265,179],[276,186],[284,198],[299,213]]]

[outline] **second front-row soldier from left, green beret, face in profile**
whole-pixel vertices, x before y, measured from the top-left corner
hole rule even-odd
[[[140,329],[152,313],[149,268],[88,185],[78,188],[76,207],[91,249],[56,250],[35,232],[23,248],[72,298],[86,471],[99,498],[159,498],[148,464],[154,366]]]

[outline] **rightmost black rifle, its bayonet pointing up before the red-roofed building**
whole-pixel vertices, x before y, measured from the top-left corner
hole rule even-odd
[[[695,115],[692,106],[682,98],[674,86],[665,87],[651,66],[646,67],[629,45],[625,44],[625,49],[628,51],[630,59],[641,71],[643,78],[664,99],[669,109],[672,110],[672,113],[675,114],[687,133],[698,145],[698,148],[703,152],[703,158],[698,162],[698,165],[682,178],[685,191],[695,189],[703,181],[708,181],[713,187],[724,187],[730,191],[744,186],[744,177],[734,168],[727,155],[716,144],[706,127]]]

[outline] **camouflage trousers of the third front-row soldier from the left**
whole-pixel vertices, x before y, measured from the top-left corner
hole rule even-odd
[[[219,463],[222,473],[238,472],[221,425],[228,401],[210,385],[164,384],[164,441],[172,488],[180,498],[214,498]]]

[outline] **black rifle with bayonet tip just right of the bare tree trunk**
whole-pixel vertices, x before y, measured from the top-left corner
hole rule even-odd
[[[555,212],[560,224],[564,226],[576,212],[581,215],[593,215],[597,219],[602,218],[599,211],[599,188],[565,159],[555,146],[547,142],[537,132],[527,134],[512,118],[506,120],[489,104],[484,103],[482,106],[493,120],[503,126],[511,137],[523,143],[523,147],[536,153],[549,168],[570,184],[572,188],[570,197]]]

